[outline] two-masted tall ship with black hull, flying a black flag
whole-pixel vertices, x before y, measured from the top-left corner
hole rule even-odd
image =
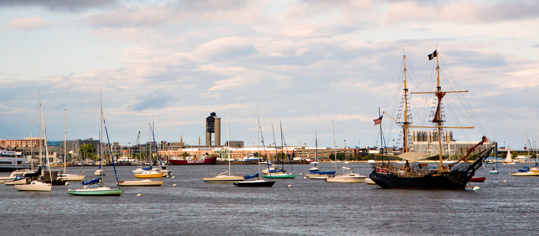
[[[459,160],[453,161],[451,163],[446,163],[444,165],[444,153],[448,147],[447,144],[444,145],[444,129],[448,128],[459,128],[467,129],[474,128],[474,126],[446,126],[445,124],[445,115],[443,111],[442,100],[444,96],[448,93],[460,93],[455,101],[462,102],[461,94],[467,92],[467,90],[461,91],[443,91],[440,86],[440,67],[438,64],[438,53],[434,51],[433,54],[429,55],[429,60],[436,58],[436,91],[418,91],[418,92],[409,92],[406,84],[406,56],[403,55],[404,63],[404,73],[403,73],[403,87],[404,94],[402,95],[402,102],[400,106],[395,105],[395,113],[398,113],[396,118],[391,117],[388,113],[384,111],[383,116],[388,116],[392,122],[395,122],[400,128],[402,128],[402,133],[399,136],[399,140],[402,139],[403,143],[403,153],[398,155],[398,158],[403,159],[404,165],[391,163],[389,159],[387,162],[382,163],[372,163],[372,173],[369,175],[369,178],[378,184],[379,187],[385,189],[460,189],[464,190],[469,180],[474,176],[475,171],[482,166],[483,159],[486,159],[490,152],[492,152],[492,146],[486,148],[482,152],[477,152],[476,148],[483,144],[487,144],[489,141],[485,135],[483,135],[482,140],[475,146],[469,147],[465,153],[462,153],[462,156]],[[445,75],[445,74],[444,74]],[[419,87],[420,83],[416,84],[416,89]],[[431,83],[431,85],[433,85]],[[453,88],[453,87],[452,87]],[[430,110],[426,110],[424,113],[429,117],[428,123],[424,125],[412,125],[412,116],[410,110],[410,96],[411,94],[418,94],[425,101],[434,99],[433,106]],[[434,95],[434,96],[432,96]],[[451,104],[455,101],[451,101],[448,104]],[[463,103],[463,105],[466,102]],[[467,105],[467,104],[466,104]],[[465,106],[466,108],[466,106]],[[467,105],[469,108],[469,105]],[[417,108],[415,108],[417,110]],[[419,113],[419,112],[418,112]],[[452,115],[454,115],[452,113]],[[476,118],[475,118],[476,119]],[[381,124],[382,116],[375,120],[376,124]],[[379,123],[377,123],[379,121]],[[475,120],[477,121],[477,120]],[[478,121],[477,121],[478,122]],[[457,121],[459,123],[459,121]],[[410,129],[431,129],[433,133],[436,134],[436,143],[429,144],[432,146],[437,146],[438,153],[433,153],[433,148],[430,148],[430,151],[414,151],[413,142],[410,137]],[[382,128],[381,128],[382,133]],[[383,135],[381,134],[381,137]],[[383,141],[383,140],[382,140]],[[476,160],[473,162],[468,161],[468,157],[471,154],[475,154]],[[382,156],[393,156],[386,154],[379,154]],[[419,163],[420,160],[436,160],[437,167],[429,168],[427,163]],[[425,162],[425,161],[423,161]],[[462,162],[462,163],[461,163]],[[460,164],[459,164],[460,163]]]

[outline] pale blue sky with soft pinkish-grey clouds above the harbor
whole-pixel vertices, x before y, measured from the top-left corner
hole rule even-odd
[[[39,94],[47,140],[64,110],[68,140],[98,138],[101,91],[110,142],[149,141],[153,122],[198,144],[215,111],[223,142],[255,144],[258,106],[265,144],[273,121],[278,145],[282,124],[288,145],[316,127],[333,147],[334,125],[336,146],[375,146],[380,108],[392,146],[403,53],[410,92],[432,91],[435,49],[442,89],[468,91],[446,96],[447,124],[476,127],[454,139],[537,139],[539,1],[2,1],[0,37],[0,139],[39,135]],[[411,97],[429,124],[432,97]]]

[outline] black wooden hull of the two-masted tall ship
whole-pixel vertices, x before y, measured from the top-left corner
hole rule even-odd
[[[490,153],[490,152],[489,152]],[[377,164],[369,178],[379,187],[384,189],[453,189],[464,190],[475,171],[482,166],[483,157],[479,157],[473,163],[462,163],[451,171],[438,173],[430,171],[430,174],[406,177],[398,172],[398,166]],[[397,171],[392,171],[397,169]]]

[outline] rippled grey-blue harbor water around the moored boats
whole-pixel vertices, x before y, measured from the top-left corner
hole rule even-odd
[[[348,165],[362,175],[372,170],[368,163]],[[68,195],[80,182],[51,192],[0,184],[0,235],[537,235],[539,176],[508,174],[524,165],[499,165],[499,175],[488,174],[492,164],[481,167],[475,176],[486,181],[471,183],[481,190],[380,189],[304,179],[312,165],[294,166],[303,175],[276,180],[272,188],[202,181],[228,166],[169,166],[175,178],[164,178],[162,187],[126,187],[120,197]],[[120,181],[133,180],[136,168],[117,167]],[[85,180],[96,177],[95,169],[85,168]],[[114,171],[105,170],[105,183],[114,188]],[[321,170],[335,167],[325,163]],[[232,166],[236,175],[257,171],[256,165]]]

